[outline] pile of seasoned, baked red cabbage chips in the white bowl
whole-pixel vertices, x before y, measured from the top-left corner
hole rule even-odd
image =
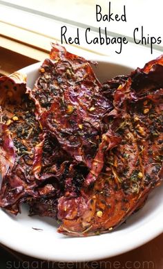
[[[109,74],[109,69],[108,69]],[[163,55],[103,85],[52,44],[33,89],[0,78],[0,207],[50,216],[58,232],[110,232],[140,209],[163,168]]]

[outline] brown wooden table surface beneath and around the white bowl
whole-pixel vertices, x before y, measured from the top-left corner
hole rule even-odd
[[[17,53],[0,48],[0,72],[12,73],[22,67],[37,62]],[[3,232],[3,231],[0,231]],[[150,231],[148,231],[150,233]],[[132,238],[131,238],[132,240]],[[26,242],[24,242],[26,243]],[[54,242],[55,244],[55,242]],[[46,246],[45,246],[46,248]],[[100,248],[100,245],[99,245]],[[0,269],[163,269],[163,234],[145,245],[125,254],[89,263],[52,263],[26,257],[4,246],[0,246]]]

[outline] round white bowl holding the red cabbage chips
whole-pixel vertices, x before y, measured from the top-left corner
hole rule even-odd
[[[137,66],[119,64],[118,61],[96,58],[99,65],[95,73],[104,82],[113,76],[130,73]],[[28,76],[32,87],[38,76],[40,63],[21,69]],[[28,216],[28,208],[22,214],[11,216],[0,209],[0,242],[4,245],[39,259],[50,261],[90,261],[113,257],[155,238],[163,232],[163,186],[155,189],[140,211],[133,214],[115,231],[100,236],[72,238],[57,233],[52,218]],[[39,228],[42,230],[35,230]]]

